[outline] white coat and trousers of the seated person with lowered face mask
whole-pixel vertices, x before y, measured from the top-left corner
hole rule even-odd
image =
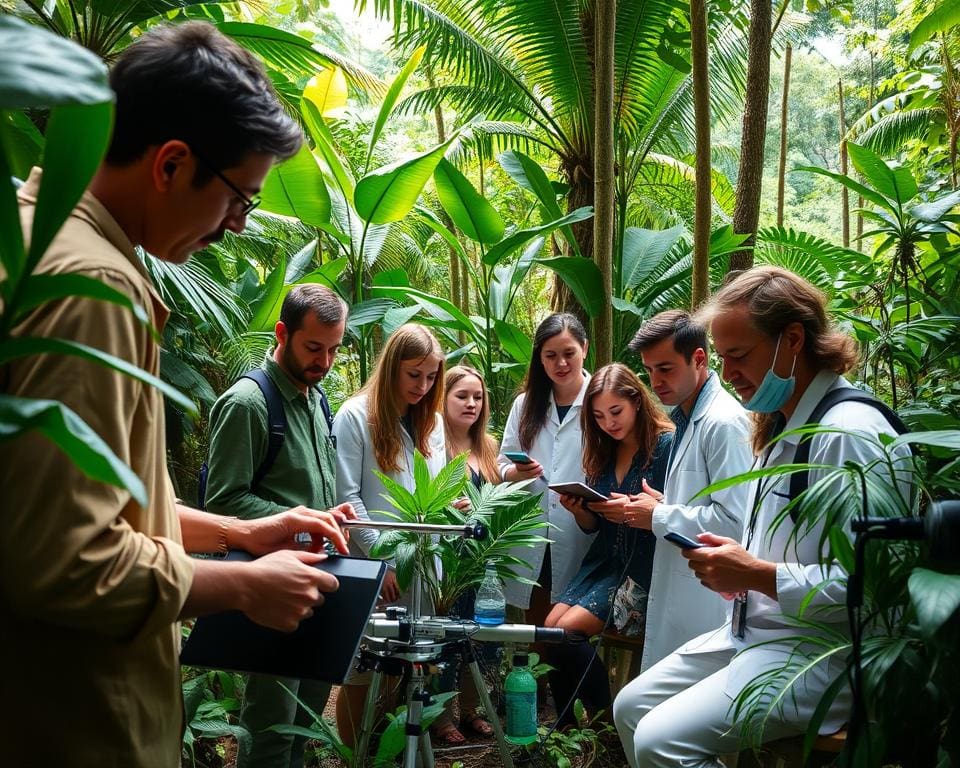
[[[837,374],[821,371],[803,393],[784,431],[803,426],[826,392],[849,386]],[[820,423],[873,438],[893,432],[877,409],[855,402],[831,408]],[[792,435],[778,441],[770,449],[764,465],[792,463],[798,440],[798,436]],[[880,455],[879,448],[871,442],[834,432],[812,437],[809,461],[827,466],[843,466],[848,461],[865,465]],[[897,451],[897,455],[905,458],[909,451]],[[823,474],[822,470],[811,470],[810,485]],[[901,480],[904,481],[901,491],[906,496],[910,492],[908,475]],[[823,521],[804,532],[797,541],[789,541],[793,530],[789,517],[773,530],[773,521],[788,502],[789,484],[789,476],[766,479],[763,491],[769,492],[761,495],[749,546],[749,512],[741,537],[752,554],[777,564],[776,599],[759,592],[748,593],[743,639],[730,631],[731,609],[728,607],[728,617],[722,626],[687,642],[643,672],[617,696],[614,720],[631,765],[716,765],[715,760],[705,755],[729,751],[731,744],[735,744],[731,741],[730,729],[736,730],[731,706],[736,697],[755,677],[781,669],[788,662],[795,643],[786,638],[817,633],[815,629],[792,625],[788,618],[800,613],[801,604],[815,587],[823,585],[810,597],[804,616],[830,623],[837,633],[849,634],[844,610],[846,574],[837,564],[823,567],[818,563]],[[750,485],[752,506],[758,483]],[[851,535],[849,531],[847,535]],[[768,737],[802,732],[827,687],[844,674],[844,667],[843,654],[834,654],[809,669],[783,699],[783,710],[774,713]],[[669,720],[668,724],[661,722],[660,713]],[[842,688],[820,726],[820,733],[835,732],[849,715],[850,691]],[[652,753],[661,759],[654,759]]]

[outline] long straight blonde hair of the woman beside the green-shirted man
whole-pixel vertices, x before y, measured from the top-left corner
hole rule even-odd
[[[416,323],[401,325],[387,339],[373,374],[361,390],[367,394],[367,423],[370,425],[373,453],[381,472],[400,471],[400,454],[403,450],[400,434],[403,429],[400,424],[403,408],[397,394],[400,363],[427,357],[436,357],[440,361],[437,363],[437,378],[420,402],[410,406],[409,415],[414,446],[429,457],[432,455],[430,433],[433,432],[437,411],[443,403],[445,365],[440,342],[430,331]]]

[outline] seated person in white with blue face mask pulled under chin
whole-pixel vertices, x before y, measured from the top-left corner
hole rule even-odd
[[[843,374],[856,363],[854,341],[831,326],[823,294],[778,267],[742,273],[700,317],[710,327],[723,378],[754,413],[754,466],[792,463],[799,436],[772,445],[771,439],[807,424],[828,392],[851,387]],[[895,433],[863,402],[839,402],[819,423],[838,430],[810,441],[809,462],[827,467],[869,464],[880,457],[877,435]],[[824,477],[823,470],[809,474],[809,485]],[[802,612],[848,633],[846,573],[837,563],[819,562],[823,524],[791,540],[789,516],[775,523],[790,500],[789,485],[789,476],[750,485],[740,541],[704,533],[705,546],[684,550],[706,588],[735,599],[724,626],[686,643],[620,692],[614,719],[631,766],[721,766],[717,756],[739,747],[737,696],[756,676],[788,662],[796,646],[787,637],[816,632],[791,617]],[[824,692],[844,674],[845,661],[837,654],[810,669],[767,719],[763,741],[803,733]],[[849,689],[842,688],[820,732],[838,730],[850,703]]]

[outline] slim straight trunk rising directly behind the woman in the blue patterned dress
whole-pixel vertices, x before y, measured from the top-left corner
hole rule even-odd
[[[613,63],[616,46],[617,0],[596,0],[594,123],[593,257],[600,269],[603,304],[593,324],[596,367],[613,360],[613,231],[615,212],[613,146]]]

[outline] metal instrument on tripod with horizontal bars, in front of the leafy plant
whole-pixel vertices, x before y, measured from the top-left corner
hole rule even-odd
[[[472,525],[423,525],[419,523],[371,522],[349,520],[342,525],[356,528],[375,528],[390,531],[413,531],[422,535],[454,535],[461,538],[482,540],[487,529],[481,523]],[[474,621],[464,621],[439,616],[422,616],[422,584],[415,576],[411,586],[409,610],[403,606],[387,608],[384,613],[374,613],[367,621],[367,631],[360,647],[362,672],[371,670],[373,678],[364,702],[360,734],[357,738],[356,756],[358,765],[365,766],[370,751],[370,740],[376,719],[377,697],[383,684],[383,676],[403,677],[407,680],[406,745],[403,754],[404,768],[416,768],[419,754],[424,768],[433,768],[433,748],[430,734],[421,721],[423,709],[430,704],[430,692],[426,687],[432,674],[441,671],[447,664],[459,659],[470,669],[480,702],[493,726],[497,747],[505,768],[513,768],[510,747],[504,737],[500,719],[490,702],[486,683],[474,652],[473,640],[501,643],[563,642],[563,629],[536,627],[528,624],[500,624],[484,626]]]

